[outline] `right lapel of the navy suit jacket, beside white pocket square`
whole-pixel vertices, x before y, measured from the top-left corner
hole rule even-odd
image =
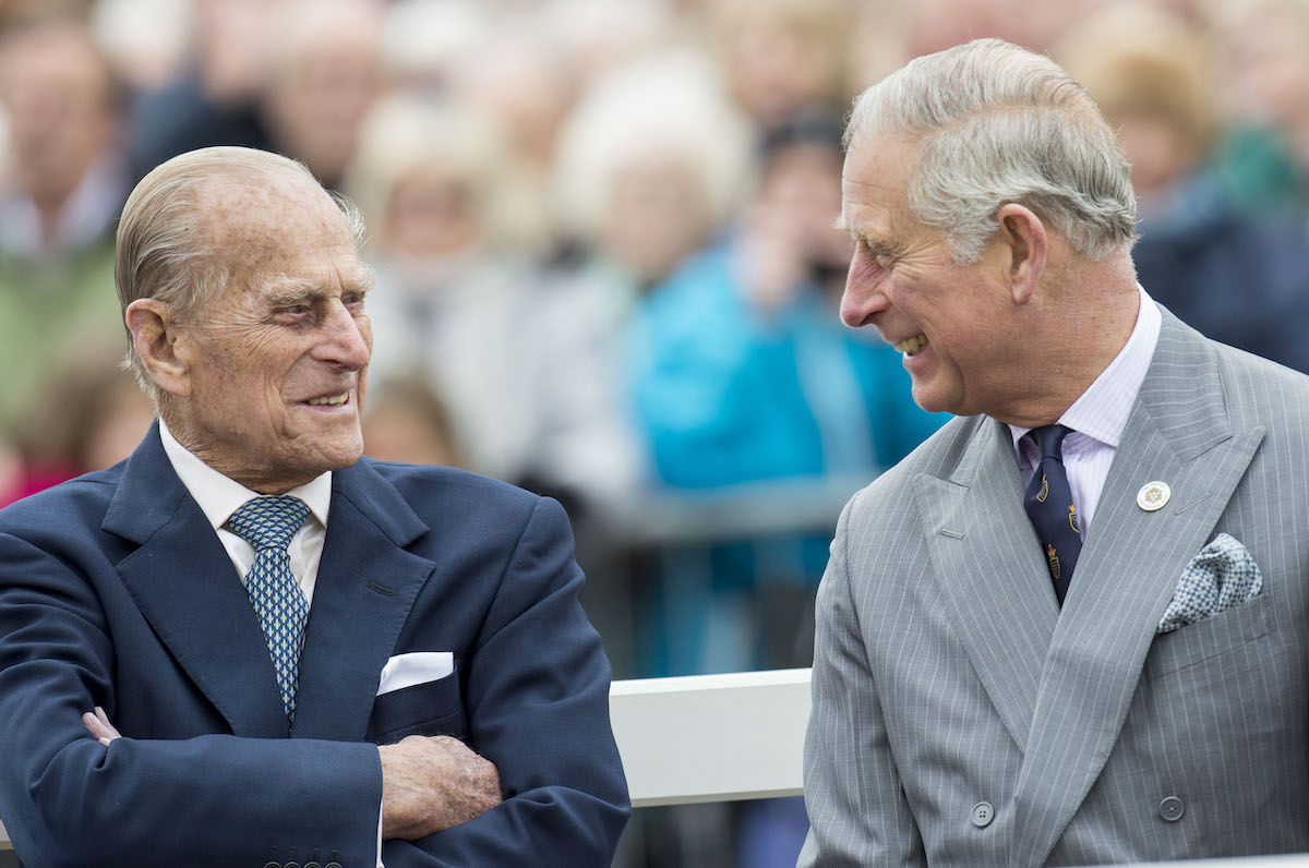
[[[300,657],[293,736],[364,738],[382,666],[435,568],[404,550],[427,532],[367,461],[332,474],[327,539]]]

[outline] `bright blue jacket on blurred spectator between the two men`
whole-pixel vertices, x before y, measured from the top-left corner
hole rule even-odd
[[[920,410],[901,353],[842,325],[816,288],[762,313],[734,271],[730,246],[715,247],[635,316],[630,394],[658,480],[872,477],[949,419]]]

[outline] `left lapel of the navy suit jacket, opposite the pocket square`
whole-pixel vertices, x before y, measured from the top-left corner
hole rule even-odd
[[[173,471],[158,423],[128,460],[102,528],[140,545],[118,564],[119,576],[232,732],[285,737],[263,628],[223,543]]]

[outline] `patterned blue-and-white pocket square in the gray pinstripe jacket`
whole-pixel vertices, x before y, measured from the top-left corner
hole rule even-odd
[[[1212,618],[1262,589],[1263,573],[1250,551],[1234,537],[1220,533],[1186,564],[1156,632],[1169,632]]]

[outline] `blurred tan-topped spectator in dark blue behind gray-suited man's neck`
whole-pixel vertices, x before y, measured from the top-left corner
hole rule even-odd
[[[1085,20],[1056,54],[1132,165],[1141,284],[1206,335],[1309,371],[1309,240],[1240,213],[1215,170],[1221,120],[1203,31],[1166,9],[1121,4]]]

